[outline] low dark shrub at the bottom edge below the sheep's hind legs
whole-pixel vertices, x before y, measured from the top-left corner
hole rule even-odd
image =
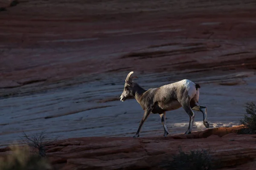
[[[185,153],[181,148],[172,159],[166,159],[162,166],[167,170],[213,170],[216,166],[212,163],[209,150],[191,150]]]

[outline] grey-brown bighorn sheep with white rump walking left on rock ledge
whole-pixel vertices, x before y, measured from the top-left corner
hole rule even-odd
[[[189,134],[192,131],[195,117],[192,110],[201,111],[203,113],[204,126],[209,128],[209,123],[207,122],[207,107],[198,104],[200,85],[188,79],[183,79],[179,82],[163,85],[159,88],[151,88],[146,91],[136,82],[133,82],[134,78],[138,78],[131,77],[133,73],[134,72],[131,71],[125,79],[125,87],[120,96],[120,100],[124,102],[125,99],[134,97],[144,110],[143,118],[140,121],[139,128],[134,138],[140,136],[141,127],[150,113],[158,113],[160,115],[164,129],[163,136],[166,137],[169,134],[166,127],[166,111],[173,111],[180,107],[183,107],[190,118],[189,128],[185,134]]]

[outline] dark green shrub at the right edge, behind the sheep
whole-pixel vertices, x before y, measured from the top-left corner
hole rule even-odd
[[[241,133],[256,134],[256,105],[253,102],[247,102],[245,111],[244,119],[240,119],[240,123],[245,126]]]

